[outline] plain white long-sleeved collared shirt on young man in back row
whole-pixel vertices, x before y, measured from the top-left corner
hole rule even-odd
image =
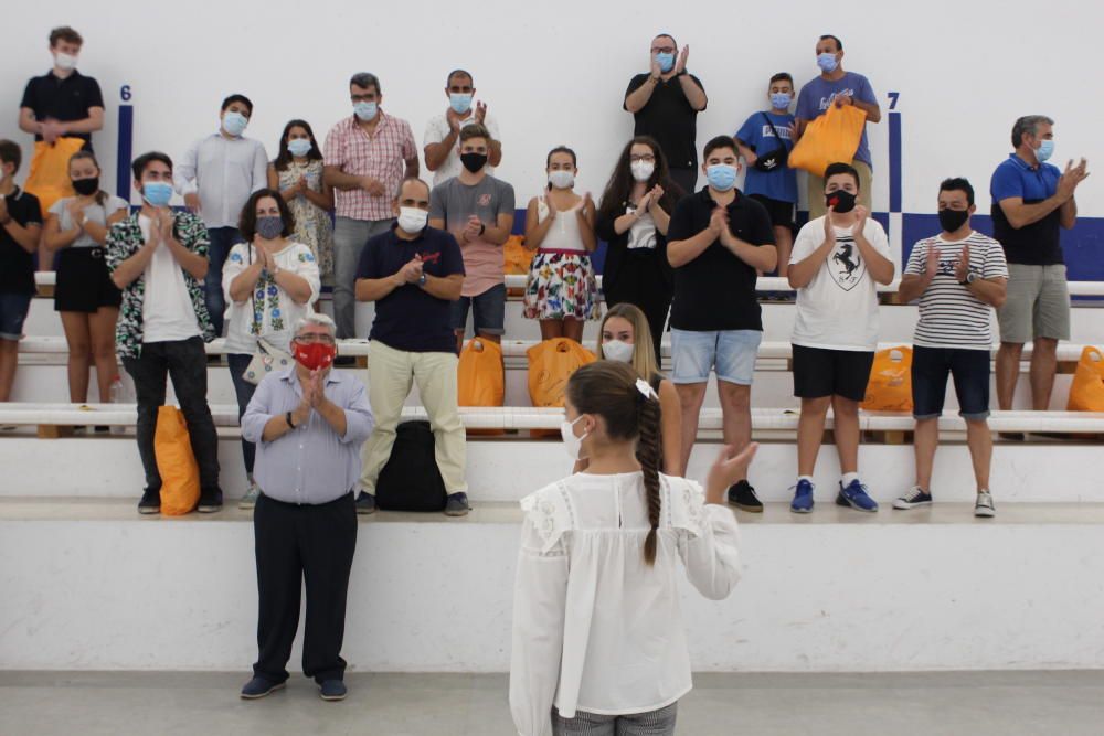
[[[250,194],[268,186],[268,157],[259,140],[215,132],[191,145],[172,182],[180,194],[199,192],[204,225],[237,227]]]

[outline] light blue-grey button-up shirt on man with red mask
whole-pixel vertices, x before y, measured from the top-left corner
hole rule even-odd
[[[242,416],[242,438],[257,446],[254,478],[265,495],[284,503],[329,503],[352,490],[360,478],[360,446],[372,433],[364,384],[330,370],[323,391],[326,398],[344,412],[344,436],[312,410],[295,429],[272,441],[262,439],[269,419],[294,412],[302,403],[295,366],[269,373],[253,394]]]

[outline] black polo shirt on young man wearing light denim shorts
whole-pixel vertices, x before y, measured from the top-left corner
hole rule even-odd
[[[682,198],[667,230],[668,242],[693,237],[709,226],[716,203],[703,188]],[[728,206],[729,228],[744,243],[774,245],[774,230],[766,207],[736,190]],[[690,263],[675,269],[671,327],[676,330],[762,330],[755,298],[755,269],[713,241]]]

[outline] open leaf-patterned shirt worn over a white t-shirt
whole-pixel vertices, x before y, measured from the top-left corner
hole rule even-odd
[[[142,235],[138,217],[136,212],[123,222],[113,225],[112,230],[108,231],[107,241],[104,243],[104,260],[107,264],[108,273],[114,273],[124,260],[138,253],[146,245],[146,236]],[[190,212],[177,212],[173,214],[173,220],[172,231],[177,241],[195,255],[205,258],[209,243],[203,221]],[[177,267],[180,267],[179,264]],[[211,318],[203,300],[203,281],[197,280],[182,268],[181,271],[188,296],[192,302],[192,310],[195,312],[200,334],[204,342],[211,342],[214,340],[214,328],[211,327]],[[146,273],[144,271],[123,290],[123,306],[119,309],[119,320],[115,327],[115,350],[119,358],[141,356],[145,334],[142,317],[145,302]]]

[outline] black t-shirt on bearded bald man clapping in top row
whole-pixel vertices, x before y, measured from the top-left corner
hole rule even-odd
[[[648,74],[637,74],[628,83],[625,96],[648,81]],[[701,79],[690,75],[704,92]],[[625,109],[628,109],[627,107]],[[659,148],[667,157],[667,166],[672,169],[692,169],[698,166],[698,110],[690,106],[682,83],[677,76],[660,79],[651,90],[648,104],[635,113],[636,136],[651,136],[659,141]]]

